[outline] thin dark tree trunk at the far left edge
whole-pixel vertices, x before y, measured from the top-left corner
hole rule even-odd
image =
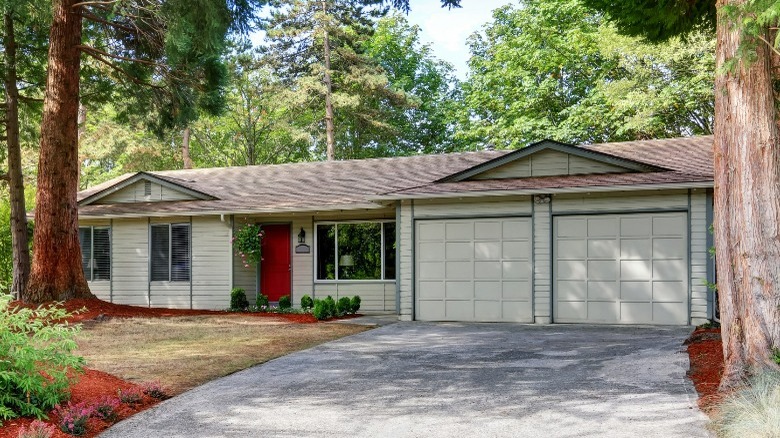
[[[13,247],[13,284],[11,292],[24,295],[30,277],[30,248],[27,235],[27,211],[24,205],[22,150],[19,144],[19,89],[16,86],[16,38],[11,12],[6,12],[5,35],[5,99],[6,143],[8,145],[8,186],[11,195],[11,241]]]

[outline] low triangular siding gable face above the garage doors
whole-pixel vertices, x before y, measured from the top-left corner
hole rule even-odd
[[[621,166],[548,149],[474,175],[469,179],[528,178],[534,176],[621,173],[627,171],[629,170]]]

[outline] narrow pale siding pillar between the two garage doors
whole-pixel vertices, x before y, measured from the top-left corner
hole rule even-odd
[[[549,324],[552,321],[550,309],[552,307],[552,247],[550,243],[550,204],[534,204],[534,322],[537,324]]]

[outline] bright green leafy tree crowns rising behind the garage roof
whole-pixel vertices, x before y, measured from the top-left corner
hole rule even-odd
[[[470,40],[456,136],[519,148],[712,133],[714,39],[642,44],[579,0],[528,0]]]

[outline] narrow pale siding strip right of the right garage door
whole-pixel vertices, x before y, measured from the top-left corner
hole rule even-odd
[[[691,193],[691,324],[707,322],[707,196],[704,190]]]

